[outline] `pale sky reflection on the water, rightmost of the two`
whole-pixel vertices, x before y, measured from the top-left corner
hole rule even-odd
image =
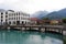
[[[46,36],[44,38],[44,44],[63,44],[63,42],[61,40]]]

